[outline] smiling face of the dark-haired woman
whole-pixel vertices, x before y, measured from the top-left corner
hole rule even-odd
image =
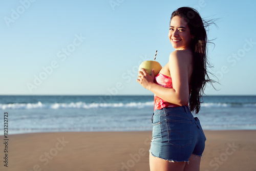
[[[190,40],[193,37],[190,34],[186,20],[180,16],[174,16],[170,21],[168,36],[176,50],[189,48]]]

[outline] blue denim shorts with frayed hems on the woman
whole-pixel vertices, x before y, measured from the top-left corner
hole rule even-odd
[[[170,162],[188,162],[191,154],[202,156],[205,135],[187,106],[155,110],[152,115],[150,153]]]

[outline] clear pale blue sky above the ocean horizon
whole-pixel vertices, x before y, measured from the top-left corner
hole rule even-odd
[[[174,50],[170,15],[196,8],[210,27],[219,91],[256,95],[255,1],[39,1],[0,3],[0,95],[150,95],[136,81],[143,60],[165,65]]]

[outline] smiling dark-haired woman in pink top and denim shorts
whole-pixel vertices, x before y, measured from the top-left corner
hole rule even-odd
[[[139,71],[137,81],[155,94],[150,169],[199,170],[205,135],[198,118],[207,74],[206,25],[199,13],[182,7],[172,13],[169,40],[175,51],[155,77]],[[189,104],[189,105],[188,105]]]

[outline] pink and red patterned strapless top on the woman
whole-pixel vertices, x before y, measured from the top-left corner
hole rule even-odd
[[[157,74],[157,76],[155,77],[155,83],[162,87],[173,89],[172,78],[167,75],[161,73]],[[188,106],[188,102],[185,105]],[[174,108],[178,106],[180,105],[169,103],[154,95],[154,111],[157,109]]]

